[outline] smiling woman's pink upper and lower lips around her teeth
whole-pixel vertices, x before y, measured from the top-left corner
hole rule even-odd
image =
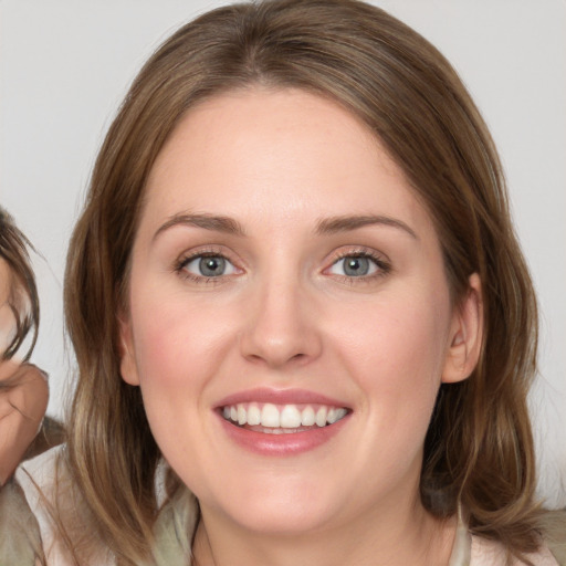
[[[240,391],[222,399],[216,407],[216,413],[228,437],[240,447],[261,455],[285,457],[314,450],[334,438],[349,421],[352,413],[326,427],[314,427],[311,430],[270,434],[238,427],[227,421],[220,409],[227,405],[243,402],[271,402],[273,405],[327,405],[346,407],[344,401],[304,389],[270,389],[256,388]]]

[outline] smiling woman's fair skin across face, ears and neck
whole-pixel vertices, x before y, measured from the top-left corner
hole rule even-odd
[[[243,234],[170,224],[195,213]],[[369,214],[397,224],[317,231]],[[227,258],[226,274],[185,261],[202,252]],[[342,258],[360,253],[375,256],[370,273],[346,276]],[[188,112],[147,184],[122,375],[199,499],[199,564],[448,564],[454,524],[421,505],[422,446],[440,384],[478,359],[480,293],[472,275],[451,304],[429,213],[334,102],[252,88]],[[214,412],[256,387],[307,389],[350,413],[313,450],[258,454]]]

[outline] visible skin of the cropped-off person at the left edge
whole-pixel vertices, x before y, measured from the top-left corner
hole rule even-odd
[[[8,305],[13,284],[10,269],[0,259],[0,333],[2,348],[9,344],[14,324]],[[35,438],[45,413],[49,388],[45,374],[30,364],[9,359],[0,363],[0,485],[20,463]]]

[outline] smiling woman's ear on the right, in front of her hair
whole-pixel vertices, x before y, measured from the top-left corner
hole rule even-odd
[[[478,273],[470,275],[468,293],[455,305],[449,336],[449,349],[442,371],[442,382],[454,384],[470,377],[482,348],[482,284]]]

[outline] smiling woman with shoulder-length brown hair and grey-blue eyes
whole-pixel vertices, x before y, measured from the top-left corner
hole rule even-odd
[[[497,155],[381,10],[235,4],[166,41],[98,155],[65,308],[69,443],[18,475],[44,563],[557,564]]]

